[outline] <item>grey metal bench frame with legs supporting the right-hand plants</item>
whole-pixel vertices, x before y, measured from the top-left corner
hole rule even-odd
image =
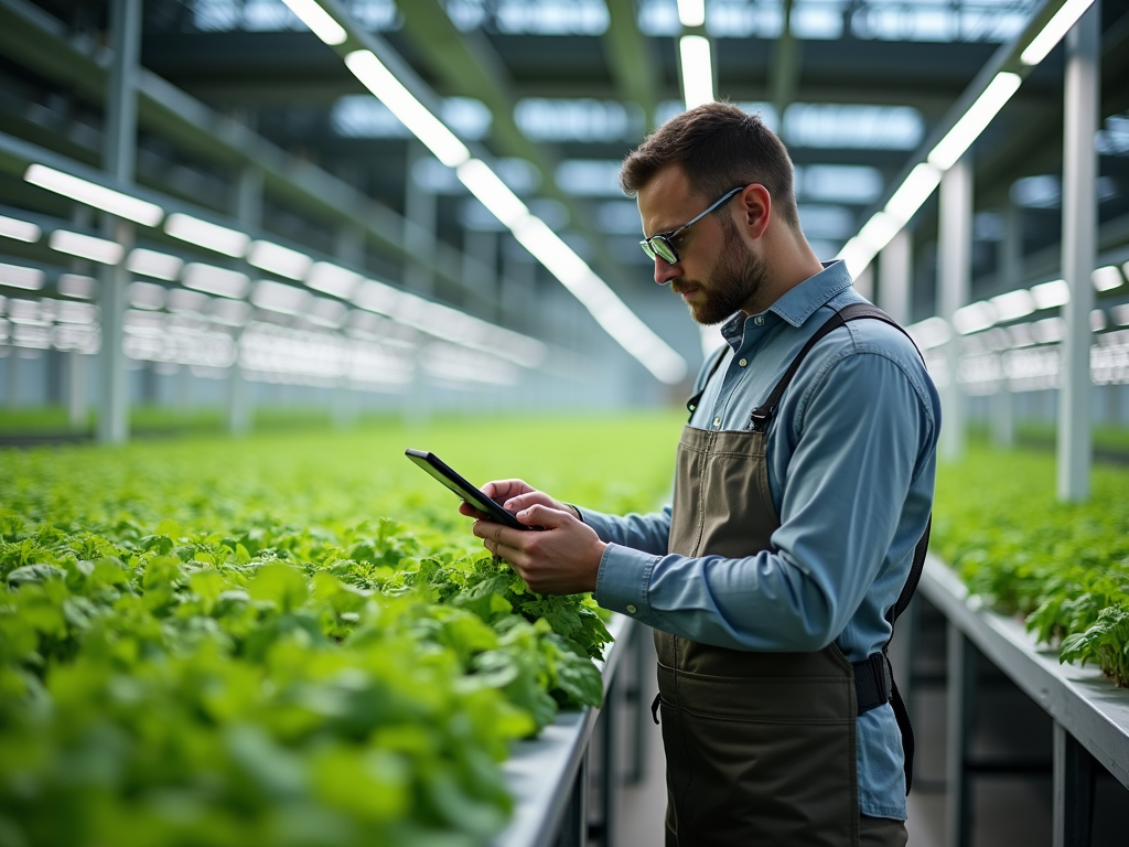
[[[1053,721],[1054,847],[1091,844],[1094,774],[1104,767],[1129,788],[1129,690],[1094,666],[1059,664],[1014,618],[984,608],[955,573],[929,557],[918,588],[947,621],[948,726],[946,830],[951,847],[970,841],[966,739],[972,719],[974,646]]]

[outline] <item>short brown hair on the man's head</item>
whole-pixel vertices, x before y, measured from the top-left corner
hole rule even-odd
[[[760,183],[780,219],[799,228],[791,158],[760,115],[730,103],[707,103],[675,115],[623,159],[620,187],[634,197],[667,165],[682,167],[691,191],[710,201]]]

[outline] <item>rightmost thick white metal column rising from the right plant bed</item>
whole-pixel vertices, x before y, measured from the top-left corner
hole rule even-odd
[[[1062,308],[1061,388],[1058,426],[1058,498],[1077,503],[1089,497],[1093,454],[1089,419],[1089,348],[1093,332],[1097,230],[1097,90],[1102,9],[1095,2],[1066,37],[1065,134],[1062,139],[1062,278],[1070,302]]]

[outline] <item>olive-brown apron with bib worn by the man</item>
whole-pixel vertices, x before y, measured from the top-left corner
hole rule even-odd
[[[767,435],[685,427],[669,551],[752,556],[780,525]],[[667,757],[667,847],[855,847],[857,702],[850,663],[753,653],[655,631]]]

